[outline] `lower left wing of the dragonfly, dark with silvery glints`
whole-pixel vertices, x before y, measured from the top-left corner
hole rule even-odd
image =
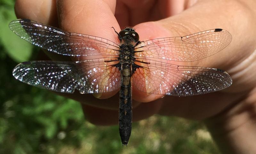
[[[118,63],[118,61],[111,62]],[[120,89],[120,72],[109,62],[30,61],[13,69],[13,76],[29,85],[63,93],[104,93]]]

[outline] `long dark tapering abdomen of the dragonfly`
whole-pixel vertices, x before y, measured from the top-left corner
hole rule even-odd
[[[132,131],[132,68],[123,64],[119,102],[119,134],[123,145],[127,145]]]

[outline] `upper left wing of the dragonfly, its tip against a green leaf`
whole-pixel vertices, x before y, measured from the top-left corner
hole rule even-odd
[[[9,27],[24,40],[61,55],[106,55],[104,57],[117,57],[119,55],[119,46],[104,38],[69,33],[29,19],[14,20],[9,24]]]

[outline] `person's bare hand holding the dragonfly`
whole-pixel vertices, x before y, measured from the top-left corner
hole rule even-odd
[[[141,41],[213,28],[228,30],[232,35],[228,47],[193,65],[225,70],[233,79],[229,88],[199,96],[164,98],[139,95],[133,89],[133,121],[153,114],[203,120],[220,150],[233,154],[256,153],[255,8],[255,0],[17,0],[15,4],[18,18],[114,42],[119,41],[110,27],[119,32],[124,26],[133,26]],[[117,92],[65,96],[81,102],[84,115],[93,124],[113,125],[118,123]]]

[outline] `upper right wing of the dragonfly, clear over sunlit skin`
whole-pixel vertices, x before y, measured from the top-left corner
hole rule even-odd
[[[228,46],[231,40],[228,31],[211,29],[183,37],[141,42],[135,47],[135,56],[190,62],[212,56]]]

